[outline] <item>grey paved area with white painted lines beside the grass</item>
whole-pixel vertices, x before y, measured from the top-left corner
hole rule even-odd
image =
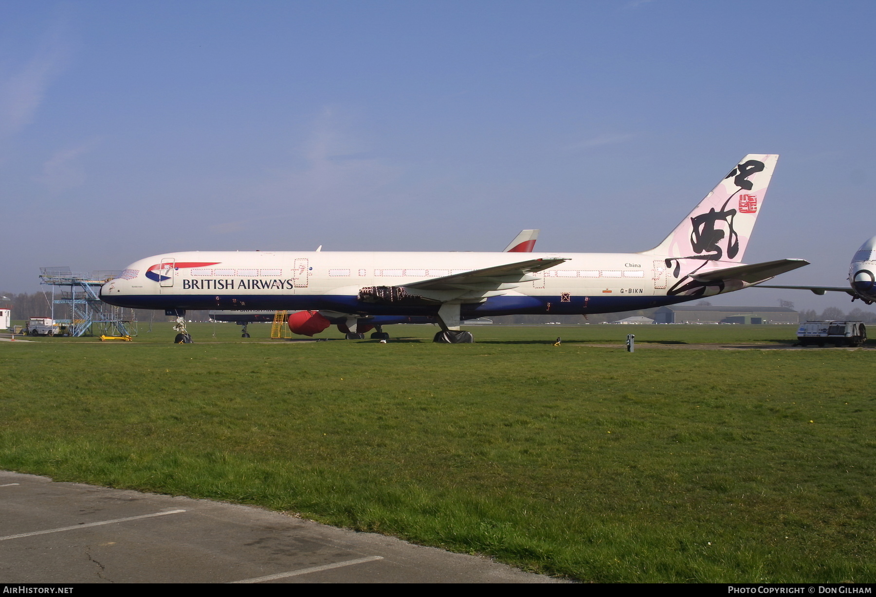
[[[5,583],[556,583],[265,509],[0,471]]]

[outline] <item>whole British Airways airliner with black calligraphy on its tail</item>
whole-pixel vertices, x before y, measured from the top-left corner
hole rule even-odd
[[[164,309],[182,334],[187,309],[298,310],[289,319],[296,334],[335,323],[348,337],[377,327],[372,335],[384,338],[383,325],[422,321],[439,324],[443,342],[472,341],[458,327],[484,316],[682,303],[809,263],[742,263],[777,159],[745,156],[663,242],[639,253],[188,251],[131,263],[101,298]]]

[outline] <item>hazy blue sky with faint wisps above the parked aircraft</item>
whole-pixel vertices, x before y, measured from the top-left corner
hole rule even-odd
[[[876,235],[874,21],[842,1],[0,0],[0,289],[172,250],[498,250],[521,228],[650,249],[746,153],[781,158],[745,261],[844,284]]]

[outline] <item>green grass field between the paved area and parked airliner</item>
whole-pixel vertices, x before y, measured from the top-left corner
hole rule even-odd
[[[876,352],[655,348],[789,344],[793,326],[487,326],[470,345],[269,328],[0,343],[0,468],[585,581],[876,579]],[[631,332],[632,355],[590,346]]]

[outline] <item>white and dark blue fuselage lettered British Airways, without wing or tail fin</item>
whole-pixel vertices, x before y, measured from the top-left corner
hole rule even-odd
[[[464,300],[484,313],[607,313],[661,306],[738,290],[698,288],[673,295],[676,278],[664,258],[639,253],[527,253],[566,261]],[[359,314],[434,314],[437,307],[364,306],[364,287],[403,286],[429,278],[520,261],[481,252],[190,251],[141,259],[102,288],[104,301],[152,309],[299,309]],[[688,261],[688,260],[682,260]],[[703,265],[702,262],[692,263]],[[709,269],[738,263],[710,262]],[[689,270],[689,268],[684,268]]]

